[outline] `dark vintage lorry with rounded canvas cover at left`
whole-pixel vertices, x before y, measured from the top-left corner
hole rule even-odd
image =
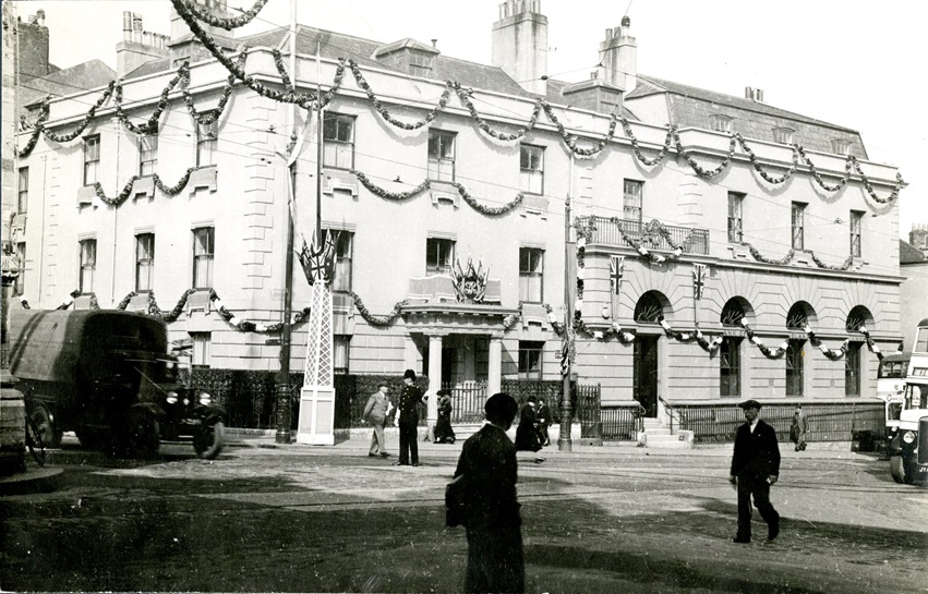
[[[10,371],[45,447],[64,432],[112,456],[149,457],[191,438],[201,458],[224,446],[225,411],[184,386],[156,317],[116,310],[13,310]]]

